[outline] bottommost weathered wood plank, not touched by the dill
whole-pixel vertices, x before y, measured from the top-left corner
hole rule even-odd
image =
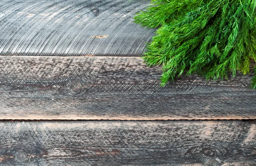
[[[2,166],[255,166],[255,121],[0,122]]]

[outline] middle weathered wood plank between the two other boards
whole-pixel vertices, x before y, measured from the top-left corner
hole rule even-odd
[[[159,87],[140,57],[0,57],[1,119],[256,119],[251,76]]]

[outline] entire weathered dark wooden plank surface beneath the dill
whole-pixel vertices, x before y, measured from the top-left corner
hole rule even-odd
[[[0,1],[0,166],[256,166],[252,74],[159,87],[149,3]]]

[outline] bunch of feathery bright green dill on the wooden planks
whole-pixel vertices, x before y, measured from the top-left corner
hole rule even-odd
[[[152,0],[134,17],[135,23],[158,28],[143,59],[163,65],[161,86],[184,72],[207,80],[248,74],[256,61],[255,8],[256,0]]]

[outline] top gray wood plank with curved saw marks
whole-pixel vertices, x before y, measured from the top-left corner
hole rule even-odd
[[[139,56],[154,29],[133,23],[150,0],[1,0],[0,55]]]

